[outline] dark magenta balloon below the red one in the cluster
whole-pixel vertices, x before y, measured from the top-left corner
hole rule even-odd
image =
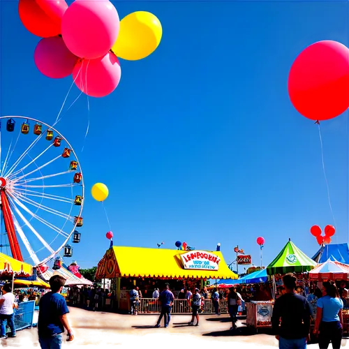
[[[40,73],[53,79],[73,73],[77,59],[59,36],[41,39],[34,52],[34,61]]]

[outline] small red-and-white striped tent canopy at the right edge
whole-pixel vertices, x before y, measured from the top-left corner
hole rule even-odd
[[[310,279],[313,280],[348,280],[349,265],[328,259],[325,263],[318,265],[309,272]]]

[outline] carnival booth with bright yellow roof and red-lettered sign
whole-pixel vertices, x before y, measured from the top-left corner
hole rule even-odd
[[[98,263],[96,280],[101,279],[112,279],[117,304],[114,309],[128,311],[128,295],[136,285],[142,292],[139,312],[152,313],[158,312],[152,298],[154,288],[162,288],[163,280],[170,283],[176,297],[183,288],[203,288],[207,279],[237,279],[237,275],[225,264],[221,251],[112,246]],[[181,302],[174,300],[173,313],[190,311]]]

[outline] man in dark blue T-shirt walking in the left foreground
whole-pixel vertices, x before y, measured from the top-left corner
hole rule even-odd
[[[38,316],[38,337],[41,349],[61,349],[64,329],[68,341],[73,341],[73,329],[69,325],[66,299],[60,294],[66,279],[54,275],[49,281],[51,292],[40,299]]]

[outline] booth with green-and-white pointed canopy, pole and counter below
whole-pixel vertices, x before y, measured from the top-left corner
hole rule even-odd
[[[273,298],[276,296],[276,279],[283,274],[304,273],[315,268],[316,262],[305,255],[291,240],[285,244],[279,255],[267,266],[267,275],[272,276]],[[258,330],[261,327],[272,327],[274,299],[269,301],[251,301],[246,304],[246,325]]]

